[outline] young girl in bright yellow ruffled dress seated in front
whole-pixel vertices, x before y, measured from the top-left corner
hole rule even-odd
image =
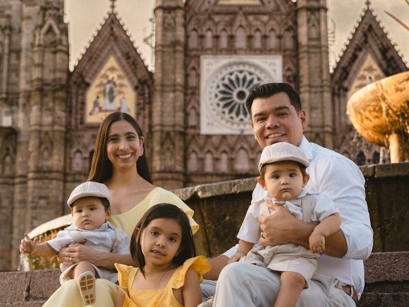
[[[194,306],[201,303],[202,275],[210,270],[196,257],[187,215],[171,204],[149,209],[131,237],[137,267],[115,263],[118,270],[116,306]]]

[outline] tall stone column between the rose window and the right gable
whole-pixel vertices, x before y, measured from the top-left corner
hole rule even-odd
[[[332,103],[328,64],[325,0],[297,1],[299,94],[307,112],[305,135],[312,142],[333,147]]]

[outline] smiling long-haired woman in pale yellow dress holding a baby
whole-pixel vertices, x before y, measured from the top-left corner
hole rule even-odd
[[[187,213],[193,233],[199,229],[192,218],[193,211],[182,200],[152,185],[142,131],[136,120],[126,113],[115,112],[102,121],[88,180],[104,183],[109,188],[112,210],[109,221],[130,237],[145,211],[159,203],[180,207]],[[59,258],[68,265],[79,261],[90,261],[108,268],[113,268],[115,262],[134,264],[131,255],[100,252],[84,245],[62,249]],[[114,306],[116,287],[114,283],[97,279],[95,306]],[[44,306],[83,306],[83,302],[71,280],[64,283]]]

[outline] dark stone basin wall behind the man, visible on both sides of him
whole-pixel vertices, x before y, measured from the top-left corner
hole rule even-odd
[[[374,231],[373,252],[405,251],[409,247],[409,163],[366,165],[365,192]],[[195,235],[199,254],[214,257],[237,242],[256,178],[177,189],[201,226]]]

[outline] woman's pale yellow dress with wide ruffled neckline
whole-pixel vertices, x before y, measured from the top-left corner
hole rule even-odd
[[[153,189],[144,200],[137,204],[131,210],[111,216],[110,222],[115,227],[121,228],[129,237],[132,236],[134,228],[142,215],[149,208],[160,203],[174,204],[181,208],[189,217],[192,232],[199,229],[199,225],[193,220],[193,210],[190,209],[182,200],[172,192],[162,189]],[[104,279],[95,280],[95,306],[114,307],[116,303],[116,294],[118,286]],[[85,306],[74,280],[67,281],[51,295],[43,307],[81,307]]]

